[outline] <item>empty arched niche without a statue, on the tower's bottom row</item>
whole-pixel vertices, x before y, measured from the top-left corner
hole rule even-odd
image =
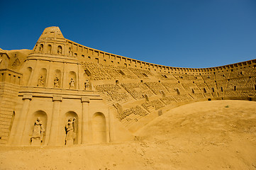
[[[94,113],[92,117],[94,143],[106,142],[106,118],[103,113]]]

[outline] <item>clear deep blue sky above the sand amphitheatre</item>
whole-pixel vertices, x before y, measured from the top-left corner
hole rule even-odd
[[[0,0],[0,47],[33,49],[44,28],[105,52],[172,67],[256,58],[256,1]]]

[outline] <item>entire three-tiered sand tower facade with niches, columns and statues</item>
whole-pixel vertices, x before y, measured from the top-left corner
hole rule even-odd
[[[45,28],[40,35],[21,68],[9,145],[110,141],[108,107],[96,91],[84,89],[84,69],[73,55],[73,44],[58,27]]]

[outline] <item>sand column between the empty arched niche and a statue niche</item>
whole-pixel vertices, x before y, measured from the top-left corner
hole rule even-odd
[[[89,142],[89,98],[82,97],[82,144]]]

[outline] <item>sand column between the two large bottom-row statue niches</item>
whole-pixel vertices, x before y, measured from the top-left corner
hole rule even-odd
[[[59,116],[60,116],[60,102],[62,102],[62,96],[53,96],[53,108],[52,108],[52,123],[50,126],[50,138],[48,145],[57,145],[57,136],[59,130]]]

